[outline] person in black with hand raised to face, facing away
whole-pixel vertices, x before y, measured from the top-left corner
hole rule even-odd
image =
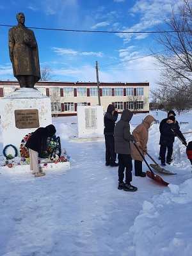
[[[118,118],[118,109],[109,104],[106,114],[104,115],[104,136],[106,143],[106,166],[118,166],[115,153],[114,127]]]

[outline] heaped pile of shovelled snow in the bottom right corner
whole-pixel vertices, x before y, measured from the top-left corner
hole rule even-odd
[[[154,202],[143,202],[134,221],[136,256],[191,255],[192,179],[168,187]]]

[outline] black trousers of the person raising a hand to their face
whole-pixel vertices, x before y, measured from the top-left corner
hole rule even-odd
[[[113,135],[105,135],[106,164],[114,164],[116,161],[115,140]]]

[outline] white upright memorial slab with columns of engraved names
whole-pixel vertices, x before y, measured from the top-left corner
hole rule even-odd
[[[104,111],[102,106],[77,106],[79,138],[100,138],[104,132]]]

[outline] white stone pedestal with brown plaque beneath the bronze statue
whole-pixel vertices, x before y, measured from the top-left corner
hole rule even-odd
[[[13,145],[18,153],[26,134],[52,124],[50,98],[32,88],[19,88],[1,99],[0,111],[3,148]]]

